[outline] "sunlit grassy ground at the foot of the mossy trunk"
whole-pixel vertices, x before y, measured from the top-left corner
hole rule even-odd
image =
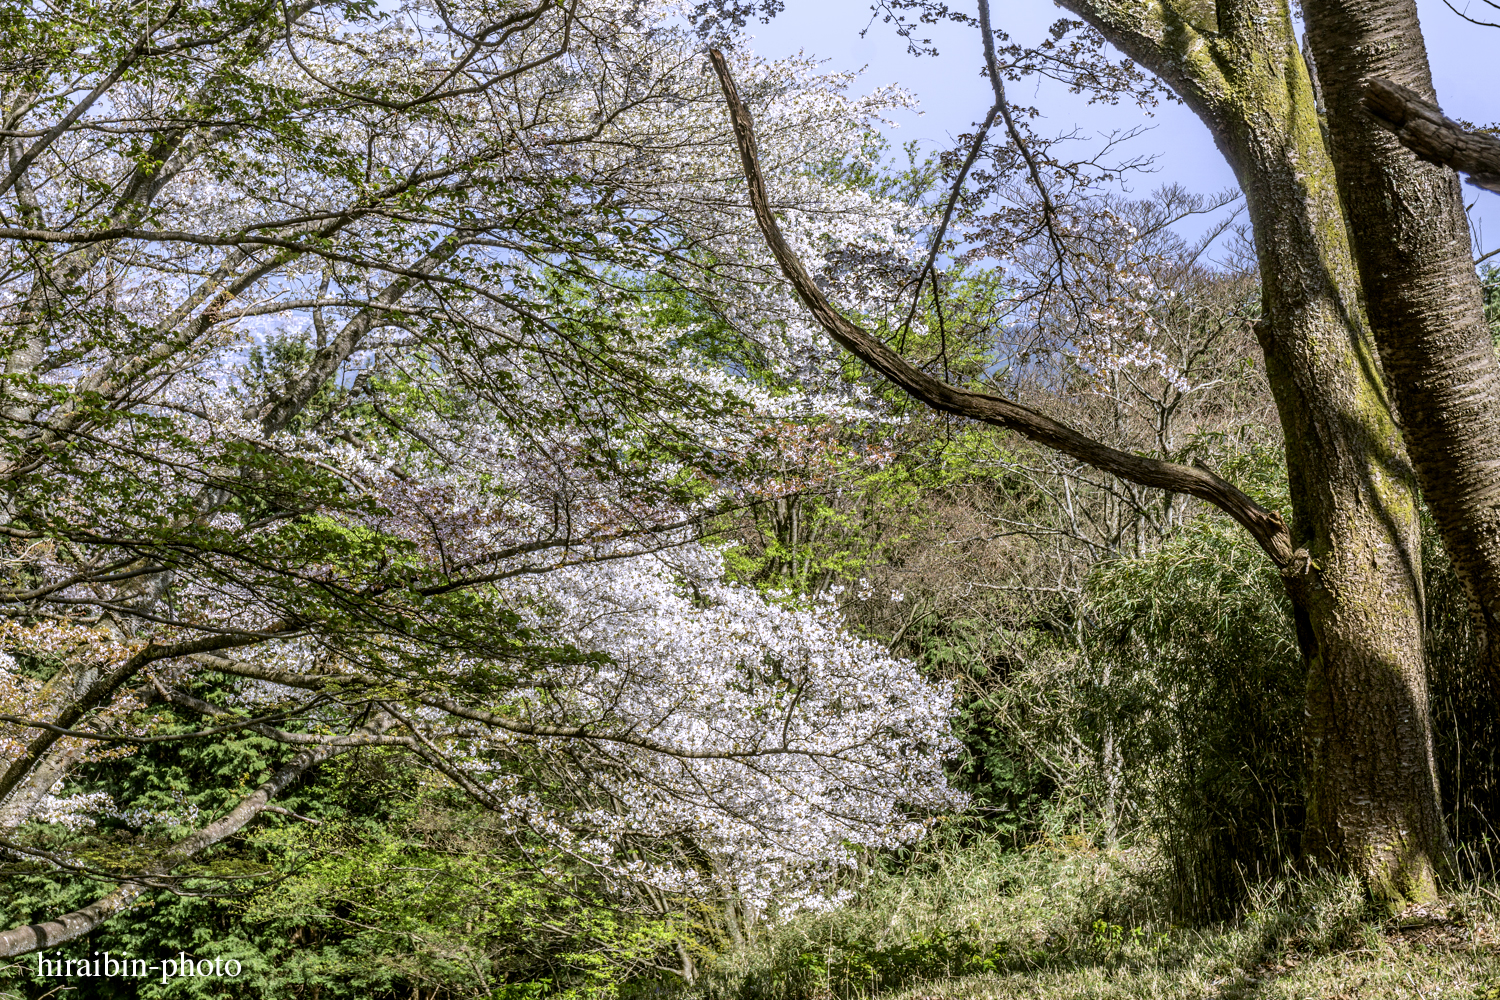
[[[1500,895],[1449,886],[1389,913],[1304,876],[1250,891],[1234,921],[1164,912],[1149,852],[1052,843],[936,847],[862,876],[858,903],[762,930],[723,957],[710,1000],[1170,997],[1500,1000]]]

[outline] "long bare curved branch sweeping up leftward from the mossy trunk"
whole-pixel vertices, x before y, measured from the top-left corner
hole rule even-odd
[[[828,336],[909,396],[933,409],[1014,430],[1036,444],[1062,451],[1131,483],[1197,496],[1244,525],[1278,567],[1282,570],[1300,568],[1305,559],[1293,550],[1292,535],[1281,516],[1250,499],[1209,469],[1119,451],[1014,400],[948,385],[914,367],[884,342],[846,319],[824,297],[812,274],[807,273],[782,235],[766,198],[765,178],[760,175],[750,112],[740,100],[723,54],[718,49],[710,49],[710,58],[714,61],[718,82],[723,85],[724,99],[729,103],[729,115],[740,145],[740,159],[750,187],[750,205],[754,210],[756,222],[760,225],[760,232],[771,246],[777,264],[782,265],[782,271],[796,289],[796,295]]]

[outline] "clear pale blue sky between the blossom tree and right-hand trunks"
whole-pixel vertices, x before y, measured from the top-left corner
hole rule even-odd
[[[1466,0],[1454,0],[1464,9]],[[966,9],[963,0],[954,4]],[[1500,28],[1476,27],[1454,13],[1443,0],[1418,0],[1422,30],[1443,109],[1455,118],[1480,124],[1500,121]],[[1040,40],[1048,24],[1065,12],[1044,0],[1022,3],[996,1],[992,6],[996,27],[1018,42]],[[972,123],[988,109],[988,87],[978,75],[981,54],[974,33],[951,25],[934,25],[922,33],[938,45],[938,58],[908,55],[904,42],[891,25],[870,24],[870,0],[786,0],[786,10],[771,24],[752,24],[752,48],[776,57],[807,51],[825,58],[828,69],[858,70],[864,75],[858,90],[900,82],[921,100],[924,114],[894,115],[898,127],[890,130],[897,142],[920,139],[924,148],[951,145],[950,136],[972,130]],[[861,28],[870,30],[860,37]],[[1214,147],[1208,130],[1191,111],[1178,103],[1161,103],[1154,117],[1134,105],[1089,105],[1060,87],[1023,84],[1011,87],[1011,99],[1035,103],[1047,121],[1038,132],[1064,132],[1078,126],[1084,133],[1152,126],[1131,142],[1130,154],[1156,154],[1156,172],[1136,175],[1131,187],[1144,195],[1167,183],[1180,183],[1200,192],[1233,186],[1228,165]],[[1472,217],[1480,228],[1482,249],[1500,246],[1500,195],[1464,186],[1466,202],[1474,202]]]

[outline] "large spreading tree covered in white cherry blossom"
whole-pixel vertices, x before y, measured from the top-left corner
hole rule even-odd
[[[3,844],[116,883],[78,937],[354,747],[412,754],[610,879],[783,910],[962,804],[951,693],[696,525],[786,427],[878,420],[768,282],[705,57],[636,3],[117,3],[8,19]],[[800,250],[908,252],[830,181],[868,123],[741,61]],[[752,346],[724,336],[748,334]],[[802,375],[790,391],[783,376]],[[810,469],[804,474],[816,474]],[[234,700],[200,697],[220,678]],[[220,816],[69,792],[254,732]],[[130,864],[42,847],[112,817]],[[168,822],[170,820],[170,822]],[[686,847],[684,847],[686,846]]]

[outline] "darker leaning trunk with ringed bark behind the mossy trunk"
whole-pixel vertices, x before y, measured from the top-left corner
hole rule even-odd
[[[1360,99],[1371,78],[1434,102],[1416,0],[1304,0],[1370,327],[1443,544],[1500,690],[1500,363],[1458,177]]]

